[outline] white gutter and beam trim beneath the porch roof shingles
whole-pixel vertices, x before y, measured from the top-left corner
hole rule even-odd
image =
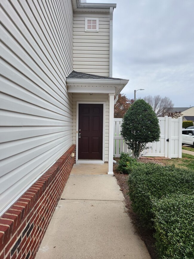
[[[127,85],[127,79],[73,79],[67,78],[68,93],[119,94]]]

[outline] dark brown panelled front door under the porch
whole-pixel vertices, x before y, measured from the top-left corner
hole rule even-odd
[[[102,160],[103,104],[79,104],[78,159]]]

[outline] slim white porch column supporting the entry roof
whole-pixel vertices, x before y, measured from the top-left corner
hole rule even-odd
[[[108,174],[113,174],[114,95],[109,94]]]

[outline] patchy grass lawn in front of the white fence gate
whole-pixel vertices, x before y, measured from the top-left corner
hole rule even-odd
[[[182,167],[194,170],[194,156],[182,153],[182,158],[172,158],[171,160],[162,160],[165,165],[175,164],[176,167]]]

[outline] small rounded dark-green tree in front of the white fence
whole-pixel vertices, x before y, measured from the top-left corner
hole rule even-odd
[[[130,106],[123,117],[121,136],[133,157],[139,159],[148,142],[159,141],[160,127],[153,108],[143,99]]]

